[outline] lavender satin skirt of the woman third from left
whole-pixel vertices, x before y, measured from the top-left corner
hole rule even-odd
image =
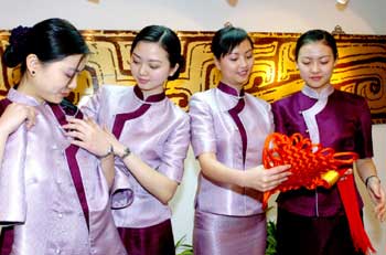
[[[228,216],[195,211],[194,255],[264,255],[266,214]]]

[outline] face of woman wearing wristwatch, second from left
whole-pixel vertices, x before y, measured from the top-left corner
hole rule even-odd
[[[163,84],[178,68],[170,66],[169,54],[156,42],[139,42],[132,51],[130,68],[146,96],[163,92]]]

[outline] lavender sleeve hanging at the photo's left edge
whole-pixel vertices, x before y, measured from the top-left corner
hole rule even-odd
[[[25,222],[25,125],[7,140],[0,169],[0,224],[12,225]]]

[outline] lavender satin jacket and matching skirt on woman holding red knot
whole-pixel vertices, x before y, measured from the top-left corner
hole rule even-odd
[[[213,152],[239,171],[261,164],[264,142],[274,130],[270,106],[221,83],[190,102],[194,155]],[[262,255],[266,220],[262,193],[207,179],[200,173],[193,231],[194,254]]]

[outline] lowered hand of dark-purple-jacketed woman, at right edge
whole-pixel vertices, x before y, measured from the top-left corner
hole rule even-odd
[[[374,203],[374,211],[380,222],[386,220],[386,195],[378,178],[371,178],[367,183],[369,198]]]

